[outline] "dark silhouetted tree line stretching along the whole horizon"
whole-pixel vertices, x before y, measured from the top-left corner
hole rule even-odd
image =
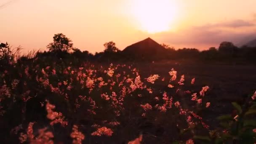
[[[53,42],[47,45],[49,51],[37,52],[34,56],[21,56],[20,60],[26,61],[32,58],[45,60],[61,60],[73,61],[79,63],[81,61],[99,61],[99,62],[112,62],[112,61],[157,61],[157,60],[193,60],[201,62],[228,62],[228,63],[254,63],[256,59],[256,47],[237,47],[231,42],[222,42],[219,48],[211,47],[208,50],[199,51],[196,48],[182,48],[176,50],[175,48],[161,44],[166,52],[162,55],[144,56],[143,59],[137,57],[133,59],[131,53],[126,54],[120,51],[113,41],[104,43],[104,51],[92,54],[88,51],[81,51],[73,47],[72,40],[67,38],[62,33],[56,34],[53,37]],[[134,51],[136,53],[136,51]],[[8,43],[0,44],[0,61],[1,64],[14,59],[15,54],[11,52]]]

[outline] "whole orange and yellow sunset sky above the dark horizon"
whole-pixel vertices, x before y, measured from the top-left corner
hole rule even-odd
[[[0,43],[46,50],[63,33],[91,53],[151,37],[174,48],[256,39],[256,0],[0,0]]]

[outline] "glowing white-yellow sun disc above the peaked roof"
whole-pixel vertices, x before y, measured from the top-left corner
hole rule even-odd
[[[149,33],[168,31],[177,15],[174,0],[136,0],[133,5],[138,28]]]

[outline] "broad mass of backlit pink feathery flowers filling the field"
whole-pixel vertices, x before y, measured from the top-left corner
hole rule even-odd
[[[69,63],[67,66],[71,64]],[[184,119],[180,123],[185,126],[197,125],[196,120],[198,119],[205,128],[208,128],[202,117],[197,115],[197,111],[190,111],[190,108],[194,108],[194,106],[184,104],[184,102],[192,100],[190,102],[196,104],[197,107],[210,107],[210,102],[205,104],[203,97],[197,96],[197,93],[193,93],[192,98],[189,96],[187,99],[185,96],[187,94],[191,95],[194,91],[184,90],[184,87],[180,86],[184,85],[185,76],[181,75],[181,79],[177,80],[177,72],[174,69],[169,72],[171,80],[166,81],[169,88],[166,84],[164,84],[165,88],[159,88],[158,85],[152,85],[159,79],[159,75],[143,77],[132,65],[117,64],[116,67],[113,67],[113,64],[111,64],[108,70],[103,69],[100,65],[94,67],[90,63],[81,64],[80,66],[67,66],[40,67],[40,65],[37,65],[26,67],[25,71],[22,70],[19,74],[20,77],[26,77],[24,80],[16,77],[8,83],[3,81],[0,85],[0,110],[5,109],[6,105],[2,105],[2,101],[8,98],[11,98],[8,99],[9,101],[12,99],[13,101],[21,100],[21,105],[25,106],[29,104],[30,100],[37,101],[37,99],[40,99],[38,104],[40,104],[40,108],[45,107],[47,111],[46,117],[49,119],[49,126],[51,125],[49,128],[55,128],[57,125],[54,124],[56,123],[60,123],[62,126],[68,125],[67,128],[73,127],[71,133],[69,129],[67,131],[75,144],[81,144],[85,139],[83,133],[87,133],[81,130],[81,132],[78,131],[77,125],[81,125],[80,128],[88,128],[88,131],[90,131],[90,126],[95,128],[96,131],[91,133],[91,136],[112,136],[113,130],[117,130],[118,133],[118,128],[122,128],[125,123],[132,125],[132,120],[138,117],[139,119],[145,117],[142,120],[150,117],[149,120],[163,123],[166,120],[165,117],[162,117],[165,115],[164,112],[167,112],[166,114],[174,113],[174,118],[178,116]],[[121,69],[119,69],[120,67]],[[128,67],[128,71],[125,71],[124,69]],[[114,71],[116,74],[114,74]],[[5,76],[9,75],[8,72],[5,72]],[[35,83],[31,83],[33,77]],[[7,78],[5,79],[7,80]],[[162,81],[164,81],[164,78]],[[194,83],[195,78],[191,81],[191,84]],[[38,90],[29,89],[29,86],[34,84],[37,84],[35,88]],[[16,89],[19,87],[22,87],[22,91],[17,94]],[[203,87],[200,96],[205,96],[208,89],[208,86]],[[41,93],[44,92],[50,93],[48,94],[49,97],[43,97]],[[12,95],[13,97],[11,97]],[[35,97],[37,98],[35,99]],[[255,97],[253,95],[252,99],[255,99]],[[61,102],[56,104],[58,106],[56,108],[49,101],[42,102],[45,99],[50,99],[55,103],[57,101]],[[58,112],[54,109],[57,109]],[[23,108],[21,112],[26,114],[26,110]],[[72,118],[65,118],[64,115],[71,115]],[[149,115],[149,117],[146,117],[146,115]],[[73,125],[73,123],[77,125]],[[168,122],[166,125],[172,125],[173,123],[178,125],[176,121]],[[20,133],[19,140],[21,143],[26,141],[28,143],[53,143],[53,133],[47,131],[46,128],[39,129],[39,134],[34,133],[33,124],[29,123],[27,133],[20,133],[21,130],[17,130]],[[89,137],[91,136],[89,135]],[[190,139],[186,143],[192,144],[193,140]]]

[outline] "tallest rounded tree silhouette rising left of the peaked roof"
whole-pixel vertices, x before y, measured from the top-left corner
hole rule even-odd
[[[71,42],[72,40],[67,38],[62,33],[59,33],[54,35],[53,42],[47,45],[47,48],[49,49],[49,51],[53,51],[53,52],[61,52],[61,51],[68,52],[73,47],[73,43]]]

